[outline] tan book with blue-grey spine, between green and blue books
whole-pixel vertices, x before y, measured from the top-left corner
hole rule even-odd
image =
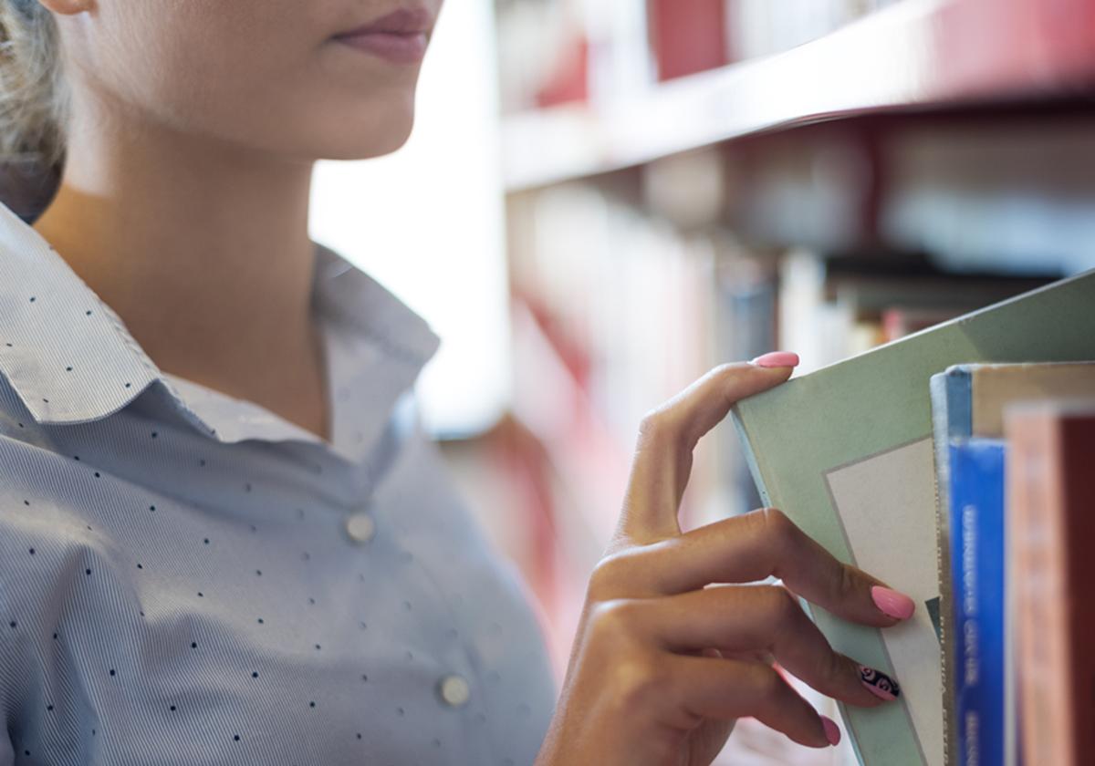
[[[950,453],[956,440],[972,437],[1003,438],[1004,407],[1022,399],[1080,396],[1095,392],[1095,362],[1056,362],[1019,364],[955,364],[931,379],[932,419],[935,434],[937,487],[936,523],[940,550],[947,550],[954,538],[950,527]],[[957,534],[957,532],[955,533]],[[940,567],[940,630],[950,634],[952,568]],[[958,634],[960,635],[960,634]],[[953,715],[955,701],[954,662],[960,642],[947,641],[943,657],[944,724],[947,750],[958,746],[960,717]],[[1008,746],[1013,746],[1015,722],[1011,685],[1005,689],[1008,716]]]

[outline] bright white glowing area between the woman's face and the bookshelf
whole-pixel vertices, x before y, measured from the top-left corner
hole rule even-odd
[[[436,436],[489,427],[509,401],[509,324],[492,4],[449,2],[400,151],[316,164],[312,237],[422,314],[441,347],[418,384]]]

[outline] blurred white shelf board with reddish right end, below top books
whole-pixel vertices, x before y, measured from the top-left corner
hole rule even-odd
[[[1090,0],[904,0],[784,54],[611,107],[508,116],[505,183],[544,186],[828,119],[1086,96],[1093,84]]]

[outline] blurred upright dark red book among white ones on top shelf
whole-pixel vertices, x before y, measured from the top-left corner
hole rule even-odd
[[[649,0],[647,13],[658,80],[727,62],[725,0]]]

